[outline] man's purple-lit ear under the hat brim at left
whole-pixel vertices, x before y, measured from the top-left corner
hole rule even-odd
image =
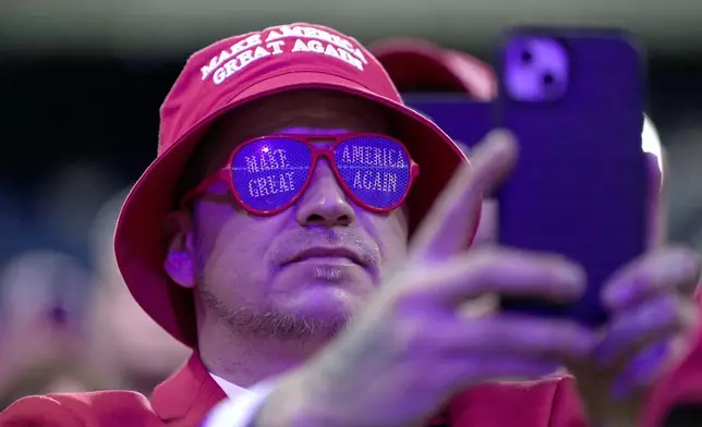
[[[194,229],[190,212],[171,211],[166,218],[165,235],[168,240],[168,252],[164,268],[175,283],[183,288],[195,285]]]

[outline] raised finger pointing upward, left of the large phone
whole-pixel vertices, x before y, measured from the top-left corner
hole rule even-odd
[[[477,228],[482,195],[491,192],[517,161],[517,144],[509,132],[493,131],[472,151],[437,197],[414,233],[410,253],[440,260],[465,248]]]

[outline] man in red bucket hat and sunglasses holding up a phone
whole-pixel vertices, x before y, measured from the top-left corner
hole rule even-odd
[[[634,425],[644,406],[645,425],[662,425],[687,398],[666,378],[633,399],[669,363],[658,343],[685,342],[697,325],[685,292],[700,266],[687,251],[614,277],[602,335],[462,315],[483,293],[576,298],[583,273],[555,255],[465,251],[515,143],[496,132],[470,168],[348,36],[292,24],[196,52],[159,136],[123,206],[117,257],[135,300],[193,357],[150,402],[28,398],[1,426],[424,425],[452,395],[451,426],[572,426],[584,418],[568,378],[491,382],[561,365],[589,380],[597,426]],[[632,399],[602,399],[613,388]]]

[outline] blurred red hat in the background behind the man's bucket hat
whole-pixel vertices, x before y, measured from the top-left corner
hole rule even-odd
[[[453,91],[488,101],[495,72],[480,59],[419,38],[388,38],[368,46],[400,91]]]

